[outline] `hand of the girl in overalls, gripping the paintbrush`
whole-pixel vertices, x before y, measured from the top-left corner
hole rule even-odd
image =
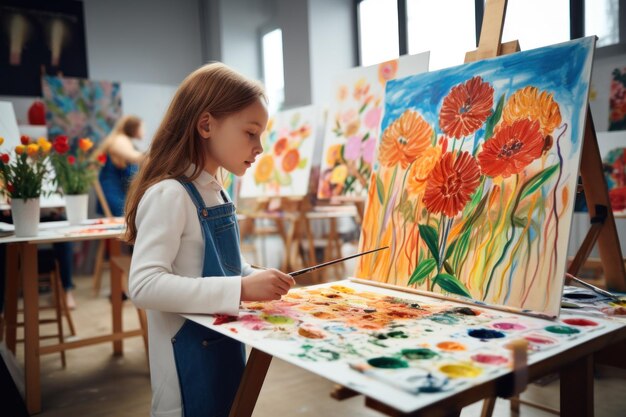
[[[268,269],[241,278],[241,301],[280,300],[295,285],[291,275]]]

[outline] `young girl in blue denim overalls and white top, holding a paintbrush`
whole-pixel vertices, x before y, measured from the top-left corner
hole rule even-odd
[[[263,151],[262,87],[223,64],[181,84],[126,204],[135,249],[129,290],[148,310],[152,416],[227,416],[245,364],[241,343],[180,313],[238,314],[294,285],[242,263],[235,207],[216,179],[243,175]]]

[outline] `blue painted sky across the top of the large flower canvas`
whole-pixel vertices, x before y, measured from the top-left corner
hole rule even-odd
[[[441,134],[439,110],[443,99],[452,87],[478,75],[495,90],[494,109],[502,94],[506,104],[511,94],[529,85],[554,94],[563,122],[569,125],[574,151],[583,127],[581,118],[586,114],[594,44],[595,37],[590,36],[388,81],[381,131],[405,110],[413,109]]]

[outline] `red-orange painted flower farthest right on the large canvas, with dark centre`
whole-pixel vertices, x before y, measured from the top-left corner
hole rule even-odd
[[[480,169],[490,177],[519,174],[541,156],[544,143],[538,121],[523,119],[503,125],[483,143],[478,154]]]

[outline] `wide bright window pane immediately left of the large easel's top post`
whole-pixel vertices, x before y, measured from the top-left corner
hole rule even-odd
[[[460,65],[476,49],[474,0],[407,0],[409,54],[430,51],[430,70]]]

